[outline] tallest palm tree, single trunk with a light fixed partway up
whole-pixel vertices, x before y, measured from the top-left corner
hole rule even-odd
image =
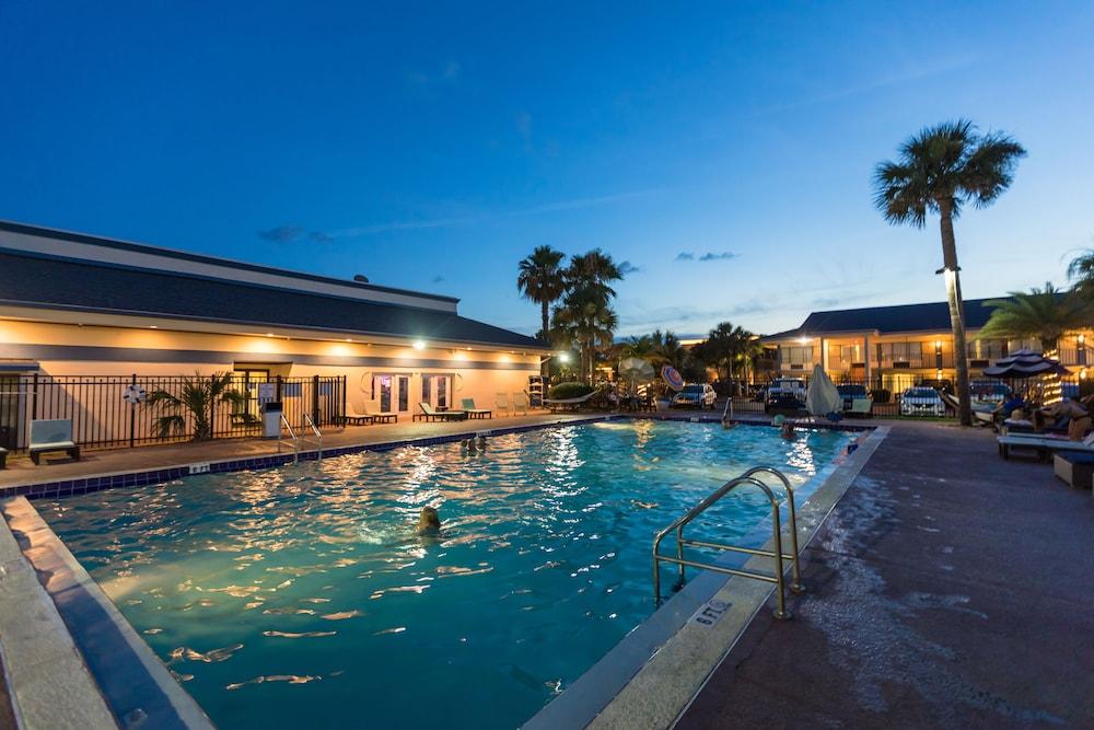
[[[928,127],[900,147],[897,162],[883,162],[874,172],[874,204],[889,223],[923,228],[928,213],[938,213],[942,233],[942,268],[950,301],[957,371],[958,417],[973,425],[968,390],[965,311],[961,296],[954,219],[962,206],[985,208],[1010,187],[1014,167],[1025,150],[1006,135],[979,135],[971,121],[958,119]]]

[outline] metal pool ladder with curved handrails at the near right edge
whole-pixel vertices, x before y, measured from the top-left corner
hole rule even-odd
[[[775,493],[771,491],[771,487],[760,482],[756,478],[758,474],[770,474],[778,477],[782,482],[783,488],[787,490],[787,503],[790,507],[790,554],[784,554],[782,552],[782,523],[780,520],[781,510],[779,509],[779,500],[776,498]],[[744,547],[742,545],[723,545],[721,543],[708,543],[700,540],[685,540],[684,538],[684,528],[695,518],[702,514],[705,511],[710,509],[718,502],[722,497],[730,494],[737,487],[756,487],[760,489],[767,497],[768,502],[771,505],[771,525],[772,525],[772,538],[775,542],[775,551],[763,551],[755,549],[752,547]],[[662,555],[661,553],[661,541],[665,538],[670,532],[676,531],[676,556]],[[775,559],[775,572],[769,575],[766,572],[755,572],[753,570],[742,570],[737,568],[728,568],[725,566],[717,565],[713,563],[700,563],[698,560],[688,560],[684,558],[685,547],[705,547],[717,551],[729,551],[732,553],[745,553],[746,555],[759,555],[764,557],[769,557]],[[701,502],[693,507],[687,513],[673,522],[671,525],[657,533],[657,536],[653,538],[653,596],[657,603],[661,602],[661,564],[670,563],[677,566],[679,578],[676,581],[675,590],[679,590],[684,587],[684,567],[691,566],[693,568],[702,568],[703,570],[713,570],[714,572],[726,573],[731,576],[741,576],[742,578],[753,578],[755,580],[763,580],[769,583],[776,584],[776,591],[778,596],[778,606],[773,611],[776,618],[791,618],[793,614],[787,610],[787,596],[785,596],[785,586],[784,586],[784,572],[783,560],[790,560],[791,566],[791,583],[790,590],[794,593],[801,593],[805,589],[802,587],[801,582],[801,570],[798,566],[798,514],[794,510],[794,490],[790,486],[790,479],[777,468],[770,466],[755,466],[738,477],[730,479],[720,488],[714,490],[712,494],[707,496]]]

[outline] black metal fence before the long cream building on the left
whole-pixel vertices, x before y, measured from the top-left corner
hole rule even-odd
[[[200,390],[209,381],[198,375],[0,375],[0,447],[24,451],[30,445],[31,422],[44,419],[71,420],[73,440],[89,449],[187,441],[198,425],[190,408],[165,401],[150,403],[147,396],[163,393],[183,399],[187,390]],[[224,390],[232,396],[211,403],[203,414],[212,438],[258,436],[261,405],[270,401],[282,404],[293,428],[304,426],[304,414],[321,427],[341,425],[346,414],[344,375],[244,374],[233,376]],[[127,391],[142,391],[146,401],[127,402]],[[179,417],[166,436],[160,428],[164,416]]]

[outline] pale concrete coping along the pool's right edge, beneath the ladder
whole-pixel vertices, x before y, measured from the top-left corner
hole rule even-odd
[[[799,506],[800,552],[816,536],[889,427],[839,430],[865,431],[866,438],[860,439],[856,450]],[[766,549],[772,549],[770,542],[765,543]],[[770,566],[761,563],[765,559],[753,557],[741,564],[753,570],[769,570]],[[672,727],[740,641],[773,590],[773,586],[759,581],[700,572],[522,728]],[[712,601],[728,607],[712,626],[696,628],[695,616]]]

